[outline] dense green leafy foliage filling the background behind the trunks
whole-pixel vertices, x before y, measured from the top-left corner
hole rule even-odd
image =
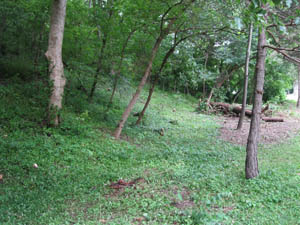
[[[77,77],[82,90],[87,92],[85,94],[90,91],[96,73],[100,74],[98,78],[111,83],[119,74],[119,88],[125,87],[129,80],[138,81],[158,35],[160,16],[171,2],[69,1],[63,45],[66,72]],[[36,79],[47,72],[44,53],[47,49],[50,3],[36,0],[2,2],[1,77],[17,75],[25,80]],[[177,20],[172,31],[175,34],[169,34],[163,41],[155,59],[152,74],[157,73],[164,54],[176,41],[174,35],[177,40],[188,36],[168,59],[159,78],[159,86],[169,91],[205,97],[218,76],[229,73],[232,66],[241,65],[214,95],[216,100],[235,99],[239,102],[241,95],[235,98],[235,94],[242,89],[242,65],[247,42],[247,23],[240,19],[243,18],[243,7],[243,3],[231,1],[200,1],[190,6]],[[255,45],[253,41],[250,74],[254,73]],[[117,75],[112,74],[112,70],[117,71]],[[280,55],[269,54],[264,100],[283,100],[295,74],[291,63],[286,63]],[[250,77],[253,80],[253,75]],[[284,81],[276,82],[279,77]],[[249,99],[251,96],[250,91]]]

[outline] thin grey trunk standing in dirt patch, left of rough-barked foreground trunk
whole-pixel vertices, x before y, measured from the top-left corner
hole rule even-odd
[[[250,54],[251,54],[251,42],[252,42],[252,31],[253,24],[250,24],[249,27],[249,37],[248,37],[248,48],[246,54],[246,65],[245,65],[245,78],[244,78],[244,92],[243,92],[243,103],[242,103],[242,112],[240,113],[239,123],[237,126],[237,130],[242,129],[243,121],[245,118],[245,111],[247,105],[247,92],[248,92],[248,78],[249,78],[249,62],[250,62]]]

